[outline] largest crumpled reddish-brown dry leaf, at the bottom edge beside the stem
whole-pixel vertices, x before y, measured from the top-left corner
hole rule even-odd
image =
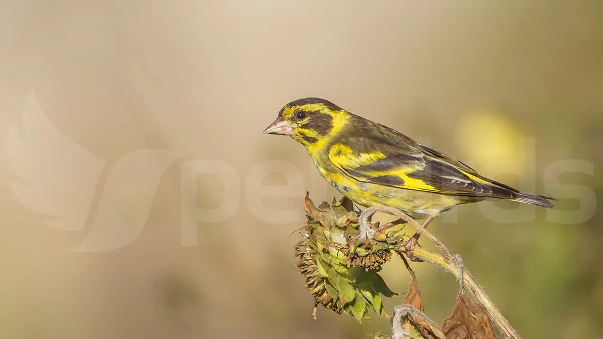
[[[496,339],[492,322],[484,306],[472,302],[471,298],[461,295],[449,318],[444,320],[442,332],[446,338],[458,339]]]

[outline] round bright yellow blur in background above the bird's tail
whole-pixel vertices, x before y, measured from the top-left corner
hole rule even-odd
[[[513,122],[490,110],[474,110],[461,116],[456,142],[463,159],[476,170],[492,162],[513,163],[510,170],[519,171],[525,163],[520,134]]]

